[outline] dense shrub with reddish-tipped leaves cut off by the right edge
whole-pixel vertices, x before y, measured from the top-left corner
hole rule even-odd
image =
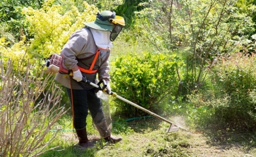
[[[215,114],[230,128],[255,130],[255,55],[241,53],[223,57],[213,69],[215,96],[226,103],[213,105]]]

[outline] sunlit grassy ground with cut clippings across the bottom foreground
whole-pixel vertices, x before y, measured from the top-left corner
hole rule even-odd
[[[133,131],[119,134],[123,137],[120,143],[100,141],[96,148],[84,152],[72,146],[77,143],[74,133],[64,132],[62,138],[70,141],[69,151],[75,150],[75,156],[256,156],[255,133],[181,129],[166,133],[169,124],[156,118],[133,120],[128,125]],[[67,151],[64,149],[58,151]],[[89,151],[91,155],[87,155]]]

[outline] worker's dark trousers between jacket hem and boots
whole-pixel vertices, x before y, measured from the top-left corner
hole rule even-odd
[[[86,118],[88,110],[91,113],[93,122],[98,124],[105,120],[104,113],[102,111],[102,102],[98,96],[96,96],[95,90],[70,90],[66,88],[70,102],[74,104],[74,128],[75,130],[82,130],[86,127]],[[71,95],[72,91],[72,95]],[[72,99],[73,97],[73,99]]]

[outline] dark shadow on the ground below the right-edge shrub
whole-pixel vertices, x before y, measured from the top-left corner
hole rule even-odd
[[[227,124],[215,118],[215,121],[205,121],[197,130],[207,138],[206,143],[219,150],[238,149],[248,154],[256,154],[256,132],[245,128],[230,129]],[[202,127],[204,126],[204,127]]]

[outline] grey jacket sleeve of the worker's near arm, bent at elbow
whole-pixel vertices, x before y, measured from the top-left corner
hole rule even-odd
[[[64,45],[60,56],[63,58],[63,63],[66,69],[72,69],[77,65],[76,56],[81,53],[81,50],[87,43],[87,35],[81,31],[77,31],[70,36],[68,43]]]

